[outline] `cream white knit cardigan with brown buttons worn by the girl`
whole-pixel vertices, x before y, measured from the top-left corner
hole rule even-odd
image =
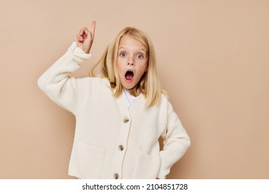
[[[74,42],[38,81],[50,99],[76,117],[68,174],[79,179],[165,179],[190,145],[172,105],[162,95],[159,105],[145,108],[140,94],[127,108],[124,94],[115,98],[108,79],[70,77],[90,56]]]

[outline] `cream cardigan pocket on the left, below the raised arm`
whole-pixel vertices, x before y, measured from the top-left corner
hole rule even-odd
[[[79,142],[77,145],[77,163],[79,179],[101,179],[105,150]]]

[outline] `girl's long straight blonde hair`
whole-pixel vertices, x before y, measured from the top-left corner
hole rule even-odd
[[[115,97],[121,96],[123,87],[119,82],[119,72],[116,64],[119,41],[121,41],[121,37],[123,36],[137,39],[143,43],[148,50],[148,70],[147,72],[144,72],[139,83],[137,83],[137,85],[130,90],[130,94],[138,96],[142,93],[146,97],[146,107],[157,105],[161,99],[161,94],[166,94],[166,91],[161,88],[161,83],[157,77],[155,50],[152,42],[145,33],[137,28],[124,28],[114,37],[114,39],[112,39],[106,50],[103,52],[101,58],[90,70],[90,76],[95,77],[93,74],[94,68],[96,68],[97,65],[100,65],[101,77],[104,77],[110,81],[110,86],[112,90],[114,90]]]

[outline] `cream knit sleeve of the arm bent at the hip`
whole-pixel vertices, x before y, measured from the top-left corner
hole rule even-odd
[[[157,176],[158,179],[166,179],[172,165],[181,159],[190,146],[190,137],[169,102],[167,129],[162,137],[163,150],[160,152],[161,167]]]

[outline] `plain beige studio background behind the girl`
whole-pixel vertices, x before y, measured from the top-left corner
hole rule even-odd
[[[125,26],[155,44],[159,77],[192,139],[168,179],[269,178],[268,0],[0,1],[0,179],[70,179],[74,117],[37,87],[97,21],[85,77]]]

